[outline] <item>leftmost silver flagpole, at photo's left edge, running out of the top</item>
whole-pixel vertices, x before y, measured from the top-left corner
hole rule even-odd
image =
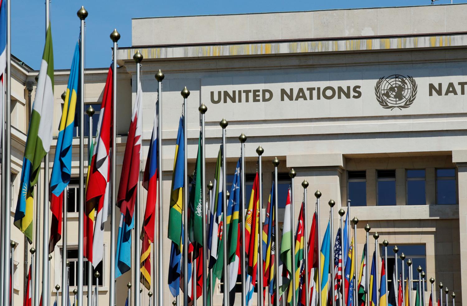
[[[3,250],[3,306],[8,306],[10,301],[6,298],[9,294],[9,277],[10,277],[10,265],[8,264],[9,257],[10,257],[10,245],[8,241],[10,241],[11,237],[11,229],[10,229],[10,205],[8,205],[9,199],[11,199],[11,4],[10,1],[7,1],[7,68],[6,68],[6,77],[5,82],[7,83],[6,88],[6,99],[5,99],[5,133],[3,134],[3,138],[5,138],[5,146],[2,147],[2,156],[5,156],[5,163],[3,166],[3,172],[1,175],[4,177],[4,186],[3,190],[5,192],[2,196],[5,199],[3,205],[3,241],[4,241],[4,250]],[[3,129],[3,127],[2,127]]]

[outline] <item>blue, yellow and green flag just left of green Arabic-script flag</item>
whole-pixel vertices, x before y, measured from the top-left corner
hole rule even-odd
[[[170,193],[169,230],[167,236],[180,248],[182,237],[183,184],[184,184],[184,134],[183,116],[178,123],[177,142],[175,144],[174,170],[172,174],[172,191]]]

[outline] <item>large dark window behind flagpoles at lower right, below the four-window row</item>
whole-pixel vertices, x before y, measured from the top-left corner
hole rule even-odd
[[[392,281],[392,274],[394,272],[394,264],[395,264],[395,259],[394,259],[394,251],[392,250],[394,248],[394,245],[388,245],[388,272],[386,275],[389,275],[389,281]],[[403,244],[403,245],[398,245],[399,252],[397,253],[397,273],[402,274],[402,268],[404,269],[404,277],[408,278],[409,277],[409,266],[407,265],[407,260],[409,258],[412,260],[412,290],[417,289],[418,285],[418,272],[417,272],[417,267],[421,266],[423,271],[426,271],[426,250],[425,250],[425,244]],[[383,252],[380,254],[384,254],[384,249],[382,249]],[[399,258],[399,256],[404,253],[405,260],[404,260],[404,267],[402,267],[402,260]],[[398,278],[398,276],[396,276]],[[404,280],[405,282],[405,280]],[[426,290],[426,283],[425,282],[425,290]]]

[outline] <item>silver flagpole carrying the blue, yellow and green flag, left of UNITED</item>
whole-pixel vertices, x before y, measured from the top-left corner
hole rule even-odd
[[[184,240],[183,240],[183,305],[188,305],[188,146],[187,146],[187,139],[188,139],[188,128],[187,128],[187,98],[190,95],[190,90],[184,87],[181,91],[181,95],[183,97],[183,146],[184,146],[184,176],[183,176],[183,226],[184,226]],[[226,211],[226,210],[225,210]],[[224,212],[225,212],[224,211]],[[226,224],[226,223],[224,223]],[[225,263],[224,263],[225,264]],[[136,305],[138,306],[138,305]]]

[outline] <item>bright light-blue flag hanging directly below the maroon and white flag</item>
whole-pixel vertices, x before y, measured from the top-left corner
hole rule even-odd
[[[115,278],[130,271],[131,267],[131,229],[134,227],[134,218],[131,224],[125,223],[125,216],[120,214],[120,226],[118,228],[117,250],[115,254]]]

